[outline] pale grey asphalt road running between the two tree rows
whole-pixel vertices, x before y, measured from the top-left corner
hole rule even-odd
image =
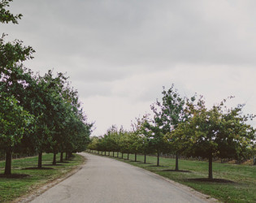
[[[206,202],[149,171],[111,158],[80,154],[87,159],[85,166],[32,202]]]

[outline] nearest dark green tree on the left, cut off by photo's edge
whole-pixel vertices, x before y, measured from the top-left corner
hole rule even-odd
[[[18,19],[21,19],[21,14],[13,15],[7,10],[9,3],[12,0],[2,0],[0,2],[0,23],[18,24]],[[12,42],[5,42],[6,34],[2,34],[0,38],[0,93],[2,99],[2,138],[3,143],[7,141],[7,167],[6,174],[11,174],[11,151],[14,146],[20,143],[24,136],[25,129],[23,128],[29,123],[30,114],[24,110],[23,98],[28,87],[28,79],[31,71],[24,68],[23,62],[27,59],[33,58],[33,48],[22,45],[22,41],[15,40]],[[15,112],[8,112],[6,109],[15,110]],[[19,116],[20,115],[20,116]],[[12,117],[12,118],[11,118]],[[14,125],[14,123],[17,123]],[[10,128],[12,126],[12,128]],[[9,132],[7,128],[10,129]],[[10,133],[14,133],[11,135]],[[9,137],[9,138],[8,138]],[[11,139],[11,140],[10,140]]]

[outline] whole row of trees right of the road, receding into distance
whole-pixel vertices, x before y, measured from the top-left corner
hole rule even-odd
[[[180,97],[172,85],[163,88],[162,101],[151,106],[153,119],[146,114],[132,123],[132,130],[112,126],[101,137],[93,137],[89,149],[121,153],[176,154],[179,171],[180,154],[209,160],[209,179],[213,179],[213,158],[251,158],[255,152],[255,129],[247,124],[253,114],[242,115],[244,105],[229,109],[223,100],[210,109],[203,97]],[[135,160],[136,161],[136,160]]]

